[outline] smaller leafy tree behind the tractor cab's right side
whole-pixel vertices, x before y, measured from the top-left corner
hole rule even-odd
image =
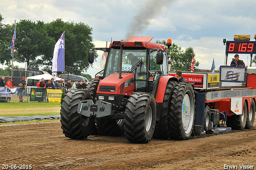
[[[165,40],[156,40],[156,43],[166,45]],[[176,44],[172,44],[168,49],[168,52],[171,52],[171,64],[170,70],[181,70],[190,72],[191,70],[191,62],[194,54],[194,50],[192,47],[186,48],[185,52],[181,49],[180,46]],[[199,62],[196,61],[195,54],[194,54],[194,70],[198,69]]]

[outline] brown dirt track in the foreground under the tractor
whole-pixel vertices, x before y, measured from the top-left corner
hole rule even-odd
[[[252,130],[207,134],[186,141],[133,144],[125,136],[71,140],[60,122],[0,126],[0,163],[42,170],[256,170],[256,124]],[[248,167],[249,168],[249,167]],[[9,168],[11,169],[11,168]]]

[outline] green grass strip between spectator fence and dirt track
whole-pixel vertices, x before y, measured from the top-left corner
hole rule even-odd
[[[10,102],[0,103],[0,116],[36,116],[36,115],[59,115],[60,114],[60,103],[47,103],[47,102]],[[40,121],[22,121],[12,123],[0,123],[3,124],[16,124],[16,123],[32,123],[32,122],[49,122],[49,121],[60,121],[60,120],[40,120]]]

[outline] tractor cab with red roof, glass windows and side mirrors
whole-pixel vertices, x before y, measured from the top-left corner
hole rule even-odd
[[[134,40],[131,42],[114,41],[110,44],[110,48],[91,48],[90,50],[103,50],[108,53],[103,76],[99,78],[108,79],[111,74],[119,73],[119,79],[121,79],[122,74],[133,74],[134,92],[152,94],[158,77],[168,75],[167,58],[170,54],[163,44],[148,42],[145,37],[142,38],[146,41],[139,42],[140,38],[136,39],[135,36],[129,38],[128,40]],[[89,61],[93,61],[93,52],[89,52]],[[111,79],[110,81],[118,80]]]

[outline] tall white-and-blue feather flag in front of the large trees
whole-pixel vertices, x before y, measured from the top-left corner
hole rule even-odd
[[[54,46],[52,72],[64,72],[64,32]]]

